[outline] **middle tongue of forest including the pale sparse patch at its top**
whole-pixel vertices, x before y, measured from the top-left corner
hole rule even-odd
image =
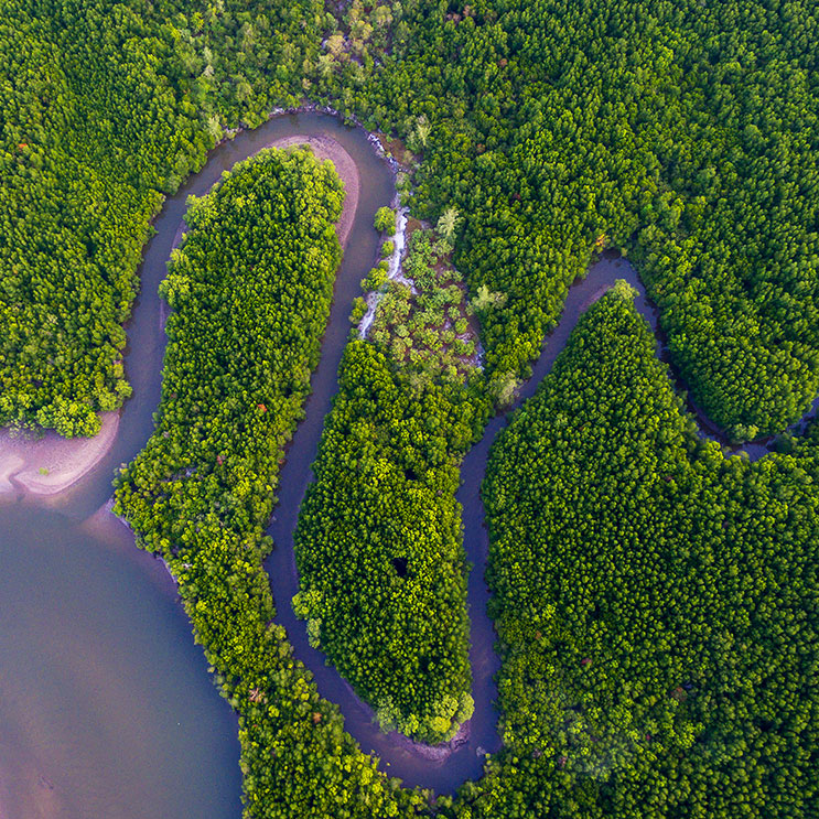
[[[379,208],[376,229],[395,225]],[[382,260],[363,281],[378,299],[375,344],[346,351],[295,532],[294,604],[311,642],[384,729],[430,743],[451,739],[473,710],[455,492],[483,405],[451,251],[416,223],[401,276],[388,279]],[[394,252],[385,241],[381,255]]]

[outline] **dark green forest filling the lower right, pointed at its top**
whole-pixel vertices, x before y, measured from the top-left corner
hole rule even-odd
[[[497,440],[503,765],[470,817],[819,811],[819,450],[725,457],[618,284]]]

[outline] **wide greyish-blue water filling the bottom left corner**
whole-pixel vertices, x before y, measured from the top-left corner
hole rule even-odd
[[[0,513],[0,816],[239,815],[237,721],[122,528]]]

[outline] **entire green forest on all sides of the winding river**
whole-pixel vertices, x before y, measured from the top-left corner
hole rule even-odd
[[[808,0],[7,0],[0,425],[94,434],[129,396],[151,218],[233,129],[319,103],[400,138],[406,202],[435,228],[411,231],[411,287],[384,263],[365,282],[379,308],[345,354],[295,604],[385,725],[446,737],[470,711],[459,463],[594,252],[634,259],[734,439],[817,394],[817,37]],[[295,151],[192,203],[157,432],[117,479],[240,714],[249,817],[430,809],[317,697],[261,565],[342,197]],[[813,429],[724,457],[624,288],[593,308],[494,452],[506,748],[441,813],[819,813],[817,448]]]

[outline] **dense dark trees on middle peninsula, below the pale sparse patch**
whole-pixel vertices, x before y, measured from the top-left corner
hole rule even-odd
[[[472,714],[454,495],[473,414],[463,388],[410,380],[353,342],[295,532],[311,639],[382,725],[425,742]]]

